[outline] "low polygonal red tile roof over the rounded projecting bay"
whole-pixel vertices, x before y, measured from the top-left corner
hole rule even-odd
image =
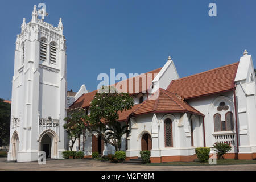
[[[204,115],[192,106],[188,105],[182,98],[162,88],[159,89],[159,96],[156,100],[146,100],[135,109],[131,115],[146,113],[193,113]]]

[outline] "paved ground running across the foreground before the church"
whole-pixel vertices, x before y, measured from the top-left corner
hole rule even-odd
[[[220,166],[145,166],[133,165],[123,163],[109,163],[100,162],[97,160],[88,159],[60,159],[60,160],[47,160],[46,165],[39,165],[38,162],[7,162],[7,158],[0,158],[0,170],[75,170],[75,171],[184,171],[184,170],[250,170],[256,171],[256,164],[243,164],[243,165],[220,165]]]

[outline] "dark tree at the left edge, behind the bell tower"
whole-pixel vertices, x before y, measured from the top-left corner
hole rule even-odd
[[[0,146],[9,145],[11,104],[0,98]]]

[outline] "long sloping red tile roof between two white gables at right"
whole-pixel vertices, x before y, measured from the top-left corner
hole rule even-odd
[[[238,64],[239,62],[173,80],[167,90],[184,99],[232,90]]]

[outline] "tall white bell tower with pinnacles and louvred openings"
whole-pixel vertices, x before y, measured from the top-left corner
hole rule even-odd
[[[53,27],[44,22],[47,15],[34,6],[31,21],[23,19],[17,35],[8,160],[38,160],[39,151],[47,158],[62,158],[67,148],[66,40],[61,18]]]

